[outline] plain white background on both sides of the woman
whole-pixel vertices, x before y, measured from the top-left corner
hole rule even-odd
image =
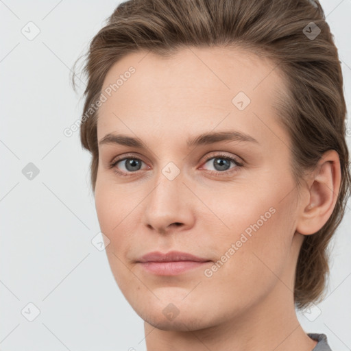
[[[99,232],[90,155],[79,132],[63,134],[82,113],[70,69],[118,3],[0,1],[2,351],[145,350],[143,320],[119,291],[105,252],[90,242]],[[321,3],[350,110],[351,0]],[[34,40],[21,33],[29,21],[40,29]],[[33,180],[22,173],[29,162],[40,171]],[[333,351],[351,348],[350,219],[348,208],[333,241],[329,297],[299,315]],[[40,310],[33,322],[21,314],[29,302]]]

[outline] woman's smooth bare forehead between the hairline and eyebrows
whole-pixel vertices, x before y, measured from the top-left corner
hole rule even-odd
[[[105,77],[98,139],[117,130],[139,132],[140,125],[143,131],[176,128],[189,134],[218,123],[243,132],[250,126],[260,138],[267,134],[262,120],[278,128],[273,103],[279,89],[285,84],[276,64],[242,49],[189,47],[169,57],[138,51],[116,62]]]

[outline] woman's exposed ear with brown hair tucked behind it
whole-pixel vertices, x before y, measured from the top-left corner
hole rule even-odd
[[[324,226],[335,208],[340,182],[339,155],[335,150],[329,150],[319,160],[313,175],[308,179],[308,193],[306,201],[301,203],[297,232],[314,234]]]

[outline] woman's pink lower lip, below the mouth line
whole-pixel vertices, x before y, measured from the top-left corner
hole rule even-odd
[[[208,262],[195,262],[195,261],[172,261],[172,262],[145,262],[140,263],[141,266],[147,271],[158,274],[158,276],[177,276],[184,273],[189,269],[202,267]]]

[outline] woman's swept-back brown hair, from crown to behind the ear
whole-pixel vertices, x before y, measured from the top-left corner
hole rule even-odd
[[[328,243],[343,218],[350,192],[346,102],[333,40],[317,0],[121,3],[91,41],[83,70],[88,78],[84,92],[84,116],[88,118],[82,119],[80,136],[83,147],[92,154],[93,191],[99,160],[98,110],[91,106],[98,101],[112,64],[140,49],[170,56],[189,46],[229,45],[265,56],[279,66],[289,90],[289,96],[277,95],[276,101],[280,123],[291,138],[291,169],[298,189],[304,172],[313,169],[324,152],[335,149],[341,162],[337,204],[323,228],[304,237],[295,274],[295,306],[301,309],[321,301],[329,273]]]

